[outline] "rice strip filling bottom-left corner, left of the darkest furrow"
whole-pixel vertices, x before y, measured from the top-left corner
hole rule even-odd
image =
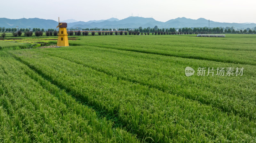
[[[0,65],[0,142],[139,142],[19,61]]]

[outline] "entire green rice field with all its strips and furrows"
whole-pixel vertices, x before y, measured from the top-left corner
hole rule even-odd
[[[54,38],[0,40],[1,143],[256,142],[256,34]]]

